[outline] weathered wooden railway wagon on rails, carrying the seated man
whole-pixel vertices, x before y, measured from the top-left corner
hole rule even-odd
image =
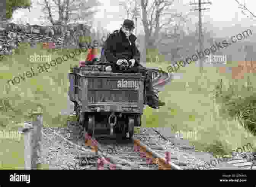
[[[131,138],[134,126],[141,126],[146,77],[102,71],[104,68],[73,68],[69,73],[70,101],[75,104],[80,125],[92,137]]]

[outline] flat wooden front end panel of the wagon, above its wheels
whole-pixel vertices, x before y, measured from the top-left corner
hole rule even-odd
[[[78,97],[83,103],[83,112],[143,113],[144,79],[141,76],[81,76],[79,84]]]

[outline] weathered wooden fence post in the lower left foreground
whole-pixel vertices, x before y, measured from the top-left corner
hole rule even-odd
[[[32,125],[27,125],[21,130],[24,133],[25,170],[37,170],[37,159],[41,154],[43,118],[40,108],[32,113],[32,119]]]

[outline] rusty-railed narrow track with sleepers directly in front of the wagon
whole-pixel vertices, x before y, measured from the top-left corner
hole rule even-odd
[[[165,159],[162,158],[160,154],[153,151],[150,146],[142,143],[142,140],[137,138],[124,140],[123,142],[118,143],[118,148],[116,148],[117,145],[115,143],[110,142],[107,142],[107,145],[106,142],[105,144],[97,142],[97,146],[90,146],[92,145],[91,140],[95,139],[92,138],[85,143],[85,138],[80,133],[80,130],[81,128],[78,126],[72,126],[69,130],[64,130],[63,128],[61,130],[51,127],[43,128],[42,130],[42,135],[44,137],[51,140],[51,137],[58,136],[59,138],[57,141],[59,141],[59,143],[61,143],[61,141],[66,141],[72,146],[72,148],[68,148],[68,151],[72,154],[71,157],[74,158],[74,162],[66,163],[67,167],[65,168],[62,166],[62,169],[182,170],[182,168],[170,161],[166,163]],[[140,138],[143,137],[140,136]],[[84,142],[81,140],[84,140]],[[106,139],[103,141],[106,141]],[[110,152],[109,150],[115,151]]]

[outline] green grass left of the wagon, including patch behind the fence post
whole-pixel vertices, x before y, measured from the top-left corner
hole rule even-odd
[[[74,51],[70,49],[69,51]],[[9,79],[29,71],[30,67],[37,67],[45,62],[29,61],[29,55],[50,55],[52,59],[67,54],[67,49],[60,49],[55,52],[43,50],[42,44],[37,44],[35,49],[23,44],[19,49],[14,50],[13,55],[6,55],[0,61],[0,130],[18,130],[18,123],[31,120],[27,114],[38,105],[42,107],[43,124],[51,127],[64,127],[68,116],[59,114],[67,108],[67,85],[70,66],[79,64],[79,60],[85,60],[87,53],[70,58],[51,67],[49,72],[41,72],[37,76],[21,80],[19,84],[6,86]],[[35,71],[38,72],[38,71]],[[12,141],[0,137],[0,169],[24,169],[24,139]],[[48,166],[41,165],[40,168],[47,169]]]

